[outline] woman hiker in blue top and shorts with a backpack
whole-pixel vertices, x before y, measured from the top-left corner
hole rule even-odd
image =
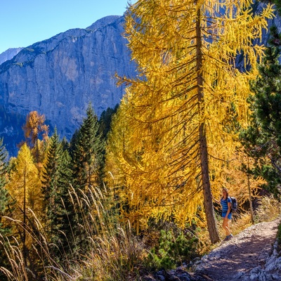
[[[211,198],[218,204],[221,204],[222,208],[222,214],[223,217],[223,229],[226,230],[226,239],[224,241],[230,240],[233,235],[230,233],[230,227],[229,227],[229,221],[232,217],[231,214],[231,199],[228,195],[228,190],[226,188],[223,188],[222,190],[223,196],[221,197],[221,200],[218,201],[214,199],[213,195],[211,195]]]

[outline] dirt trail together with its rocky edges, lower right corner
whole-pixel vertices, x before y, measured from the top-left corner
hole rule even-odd
[[[276,234],[280,218],[243,230],[203,256],[188,273],[187,266],[147,275],[145,281],[281,281],[281,251]]]

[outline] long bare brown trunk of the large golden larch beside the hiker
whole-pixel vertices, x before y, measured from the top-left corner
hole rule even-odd
[[[204,91],[203,91],[203,75],[202,75],[202,41],[201,41],[201,11],[197,8],[196,20],[196,39],[197,39],[197,86],[198,86],[198,103],[200,119],[204,118]],[[207,218],[207,227],[211,243],[216,243],[220,240],[218,235],[218,228],[216,226],[216,219],[214,214],[214,206],[211,200],[211,184],[209,180],[209,161],[207,138],[205,131],[204,120],[200,120],[199,137],[200,137],[200,166],[202,173],[202,186],[204,195],[204,210]]]

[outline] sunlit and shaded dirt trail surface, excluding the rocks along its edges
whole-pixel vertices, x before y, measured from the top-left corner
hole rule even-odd
[[[257,266],[263,268],[275,242],[279,222],[278,218],[268,223],[258,223],[230,241],[221,242],[218,248],[202,258],[197,273],[206,280],[234,281],[247,277],[247,273]]]

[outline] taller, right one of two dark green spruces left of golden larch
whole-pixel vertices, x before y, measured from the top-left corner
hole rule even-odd
[[[91,186],[101,184],[103,146],[103,140],[98,133],[98,118],[90,104],[86,111],[86,118],[79,131],[74,134],[70,145],[73,177],[72,198],[75,212],[72,230],[79,251],[85,251],[89,245],[87,232],[91,231],[91,226],[89,226],[91,220],[88,219],[91,205],[85,203],[84,200],[89,197]]]

